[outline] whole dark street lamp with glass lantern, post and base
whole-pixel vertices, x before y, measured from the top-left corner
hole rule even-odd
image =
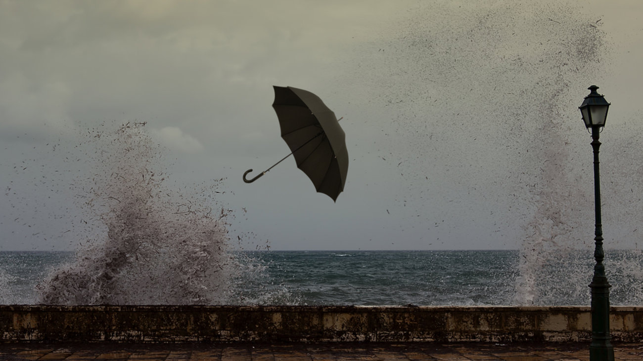
[[[596,92],[599,89],[592,85],[587,89],[590,94],[585,97],[579,107],[583,114],[585,127],[592,128],[592,148],[594,150],[594,207],[596,228],[594,231],[595,249],[594,276],[592,277],[592,344],[590,345],[590,360],[614,360],[614,348],[610,342],[610,284],[605,276],[605,266],[602,264],[605,256],[602,249],[601,225],[601,180],[599,174],[599,134],[605,126],[607,110],[610,107],[605,98]]]

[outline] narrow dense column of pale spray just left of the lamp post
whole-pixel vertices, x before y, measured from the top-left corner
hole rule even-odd
[[[543,111],[545,119],[557,116],[556,109],[552,108],[549,113]],[[561,136],[561,125],[544,123],[541,133],[545,137],[539,139],[543,156],[540,179],[529,188],[536,209],[532,219],[523,226],[525,238],[520,245],[519,276],[513,301],[516,304],[559,304],[564,298],[579,297],[579,292],[586,294],[586,269],[566,267],[565,262],[559,262],[566,260],[567,265],[576,264],[570,258],[576,255],[573,251],[583,247],[582,242],[572,240],[580,236],[578,233],[582,229],[579,221],[585,214],[578,202],[584,195],[569,177],[570,157],[561,146],[566,143],[565,137]],[[570,290],[574,290],[574,297],[565,297]]]

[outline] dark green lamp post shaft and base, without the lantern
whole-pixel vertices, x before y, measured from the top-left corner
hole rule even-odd
[[[601,175],[599,172],[599,141],[600,127],[592,127],[592,148],[594,152],[594,207],[595,207],[595,249],[594,276],[592,277],[592,344],[590,345],[590,360],[614,360],[614,348],[610,342],[610,284],[605,276],[605,266],[602,261],[603,252],[601,224]]]

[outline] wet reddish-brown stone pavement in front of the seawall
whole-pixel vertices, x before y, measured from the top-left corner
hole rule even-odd
[[[643,360],[643,342],[615,344],[616,360]],[[0,360],[589,360],[588,344],[324,342],[228,344],[0,344]]]

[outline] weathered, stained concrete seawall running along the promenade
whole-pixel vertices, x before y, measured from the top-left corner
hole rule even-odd
[[[643,340],[643,307],[611,308],[615,341]],[[1,342],[578,342],[587,306],[0,305]]]

